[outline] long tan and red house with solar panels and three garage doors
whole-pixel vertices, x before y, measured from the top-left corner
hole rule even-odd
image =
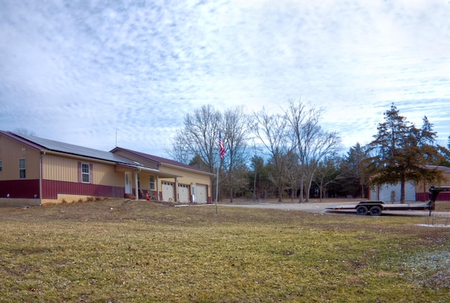
[[[211,176],[124,148],[106,152],[0,131],[0,203],[44,205],[147,195],[161,201],[207,203]]]

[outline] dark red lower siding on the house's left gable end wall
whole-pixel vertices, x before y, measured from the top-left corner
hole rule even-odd
[[[0,181],[0,198],[39,199],[39,179]]]

